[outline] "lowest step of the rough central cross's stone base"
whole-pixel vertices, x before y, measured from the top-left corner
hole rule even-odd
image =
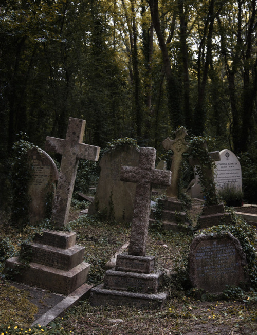
[[[103,284],[91,290],[90,302],[93,306],[128,305],[136,308],[162,308],[168,297],[167,292],[157,294],[134,293],[127,291],[108,290]]]

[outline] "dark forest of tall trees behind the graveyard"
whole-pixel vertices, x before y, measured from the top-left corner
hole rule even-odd
[[[2,194],[14,142],[44,148],[75,117],[101,148],[212,137],[256,203],[256,22],[256,0],[0,0]]]

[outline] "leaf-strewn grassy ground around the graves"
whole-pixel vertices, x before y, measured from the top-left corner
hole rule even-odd
[[[129,238],[130,228],[118,222],[101,222],[96,218],[79,217],[80,204],[72,207],[70,228],[78,232],[77,244],[85,246],[85,260],[91,264],[88,283],[97,285],[104,274],[104,264]],[[195,206],[192,216],[199,212]],[[33,228],[12,227],[8,217],[0,221],[6,255],[19,250],[23,239]],[[166,276],[170,292],[162,310],[128,307],[91,307],[88,300],[71,308],[63,318],[47,327],[29,328],[35,305],[27,291],[12,288],[2,277],[0,286],[0,334],[257,334],[257,294],[228,289],[227,299],[215,300],[194,290],[182,288],[185,283],[186,257],[192,237],[151,229],[148,254],[156,255],[157,266],[177,271]],[[15,250],[14,250],[15,249]],[[2,255],[1,255],[2,257]],[[2,257],[2,265],[3,263]],[[2,268],[0,268],[0,273]],[[1,274],[0,274],[1,276]],[[40,307],[40,304],[38,304]],[[29,319],[31,317],[31,319]]]

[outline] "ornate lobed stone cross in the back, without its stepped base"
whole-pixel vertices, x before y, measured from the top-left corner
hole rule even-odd
[[[185,137],[188,135],[185,128],[177,129],[175,132],[175,139],[171,140],[169,137],[162,142],[162,145],[165,150],[172,150],[172,162],[171,162],[171,172],[172,179],[170,186],[166,189],[167,197],[176,197],[178,196],[178,187],[179,187],[179,168],[182,161],[182,154],[188,150],[188,143],[185,140]]]

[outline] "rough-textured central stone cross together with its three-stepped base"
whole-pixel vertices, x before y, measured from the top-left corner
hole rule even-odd
[[[91,290],[93,305],[162,307],[167,292],[158,293],[163,272],[154,271],[153,256],[145,256],[152,184],[168,185],[171,172],[155,170],[154,148],[141,147],[137,167],[121,166],[121,180],[135,182],[136,196],[128,254],[117,255],[115,270],[108,270],[104,283]],[[152,294],[151,294],[152,293]]]

